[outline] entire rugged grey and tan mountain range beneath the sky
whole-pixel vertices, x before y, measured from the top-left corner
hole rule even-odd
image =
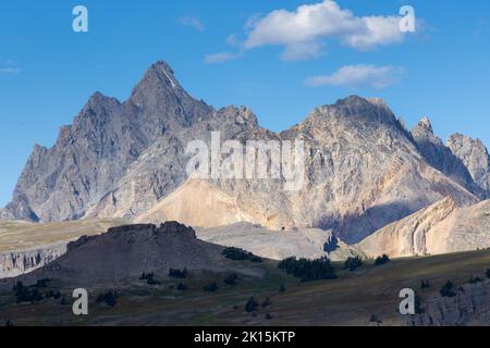
[[[283,179],[212,179],[196,194],[185,148],[209,141],[211,132],[242,142],[304,140],[303,188],[285,191]],[[428,119],[409,132],[382,100],[356,96],[272,133],[247,108],[215,110],[194,99],[157,62],[126,101],[95,94],[52,148],[34,148],[0,220],[159,216],[195,225],[204,221],[199,212],[205,227],[319,227],[358,243],[446,197],[458,207],[486,199],[489,163],[481,141],[454,135],[444,145]]]

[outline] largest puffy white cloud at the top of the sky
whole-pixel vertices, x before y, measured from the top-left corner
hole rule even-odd
[[[322,42],[335,39],[357,50],[400,44],[401,16],[355,16],[333,0],[305,4],[295,11],[275,10],[246,24],[244,47],[283,46],[284,60],[318,58]]]

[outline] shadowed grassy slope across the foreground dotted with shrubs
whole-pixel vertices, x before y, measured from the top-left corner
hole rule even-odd
[[[397,294],[411,287],[424,299],[438,294],[448,279],[455,285],[467,283],[470,275],[485,278],[490,268],[490,251],[475,251],[419,259],[395,260],[387,265],[365,265],[356,272],[338,268],[339,279],[299,283],[277,270],[277,262],[264,264],[241,262],[243,268],[260,268],[267,271],[264,278],[240,277],[238,285],[225,286],[222,274],[192,274],[183,283],[188,290],[177,291],[169,286],[180,281],[163,279],[162,285],[151,287],[133,281],[119,288],[120,298],[114,308],[94,303],[101,289],[90,289],[90,315],[75,318],[71,304],[44,300],[36,304],[13,304],[11,294],[0,296],[0,321],[12,319],[17,324],[69,325],[369,325],[376,314],[383,325],[404,324],[407,320],[396,313]],[[218,281],[217,293],[203,291],[210,281]],[[428,279],[431,287],[420,290],[420,283]],[[286,291],[279,293],[279,286]],[[70,299],[69,287],[63,289]],[[259,302],[270,297],[273,304],[260,308],[253,316],[244,311],[246,300],[255,296]],[[233,307],[237,306],[237,309]],[[272,320],[266,320],[266,313]],[[1,323],[1,322],[0,322]]]

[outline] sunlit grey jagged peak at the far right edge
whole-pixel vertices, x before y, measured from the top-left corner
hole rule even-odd
[[[468,169],[475,183],[487,192],[490,198],[490,157],[480,139],[454,134],[448,140],[448,147]]]

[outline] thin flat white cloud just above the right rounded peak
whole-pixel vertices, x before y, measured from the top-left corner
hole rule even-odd
[[[338,86],[338,87],[373,87],[385,88],[396,84],[404,73],[403,67],[378,65],[345,65],[331,75],[308,77],[305,85],[310,87]]]

